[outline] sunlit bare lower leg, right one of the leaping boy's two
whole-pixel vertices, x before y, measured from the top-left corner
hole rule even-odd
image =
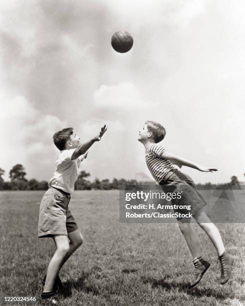
[[[219,230],[217,227],[212,223],[209,217],[206,215],[203,208],[199,209],[195,214],[194,218],[198,225],[205,231],[208,235],[212,244],[216,248],[218,256],[220,256],[224,252],[224,245],[222,238],[220,236]]]

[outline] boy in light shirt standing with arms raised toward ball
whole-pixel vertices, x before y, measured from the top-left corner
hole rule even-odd
[[[80,137],[73,133],[71,127],[64,128],[53,135],[53,142],[60,150],[56,160],[53,177],[48,182],[39,210],[38,237],[52,237],[56,250],[49,262],[44,276],[44,289],[41,299],[57,301],[52,297],[56,289],[62,287],[58,272],[64,262],[83,242],[83,237],[70,213],[68,203],[80,162],[86,158],[88,148],[99,141],[106,131],[101,127],[99,134],[90,140],[80,143]]]

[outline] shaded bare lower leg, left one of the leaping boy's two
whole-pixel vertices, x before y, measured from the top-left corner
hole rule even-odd
[[[178,226],[182,235],[184,236],[193,259],[201,257],[199,238],[193,230],[190,220],[187,218],[182,218],[178,220]]]

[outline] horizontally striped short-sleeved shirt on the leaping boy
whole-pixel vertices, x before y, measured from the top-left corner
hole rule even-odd
[[[145,161],[147,167],[154,177],[154,179],[159,183],[167,178],[167,173],[175,169],[170,160],[162,158],[161,154],[166,149],[159,144],[152,144],[145,150]]]

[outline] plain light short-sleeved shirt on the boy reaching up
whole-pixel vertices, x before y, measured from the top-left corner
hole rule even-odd
[[[48,181],[48,187],[63,190],[67,193],[74,191],[74,183],[78,175],[80,156],[71,160],[74,149],[62,150],[56,159],[55,171]]]

